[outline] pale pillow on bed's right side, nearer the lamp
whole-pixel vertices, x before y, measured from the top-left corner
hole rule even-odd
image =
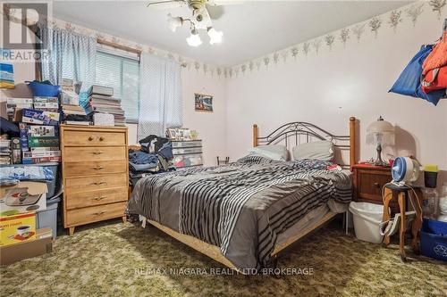
[[[292,148],[293,160],[316,159],[333,161],[333,143],[322,140],[307,144],[298,144]]]

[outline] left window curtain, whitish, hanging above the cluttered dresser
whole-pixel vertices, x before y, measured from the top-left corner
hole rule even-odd
[[[83,36],[71,30],[39,24],[40,38],[49,53],[48,61],[42,62],[42,78],[60,85],[62,78],[82,82],[86,91],[95,83],[97,38]]]

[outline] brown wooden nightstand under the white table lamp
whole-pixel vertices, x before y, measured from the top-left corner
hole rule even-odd
[[[354,201],[384,204],[382,188],[392,181],[391,168],[356,164],[352,166]],[[399,211],[397,202],[392,202],[393,212]]]

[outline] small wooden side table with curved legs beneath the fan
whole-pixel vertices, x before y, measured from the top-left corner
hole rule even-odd
[[[413,205],[414,210],[416,211],[416,218],[411,222],[411,235],[413,238],[411,239],[411,247],[415,253],[419,253],[419,244],[417,237],[419,235],[419,230],[422,227],[422,201],[423,196],[420,188],[413,187],[415,193],[409,186],[396,186],[393,184],[388,184],[384,189],[384,216],[383,221],[388,221],[391,219],[391,214],[389,211],[389,205],[392,200],[398,201],[399,204],[399,212],[401,213],[401,226],[399,230],[399,250],[401,252],[401,260],[407,260],[405,255],[405,231],[406,231],[406,218],[405,212],[407,209],[406,201],[407,197],[409,201]],[[415,195],[416,194],[416,195]],[[384,236],[384,246],[390,244],[390,236]]]

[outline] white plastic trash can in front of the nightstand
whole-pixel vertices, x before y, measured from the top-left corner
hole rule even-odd
[[[350,202],[353,214],[354,230],[359,240],[368,243],[382,243],[380,223],[384,214],[384,206],[367,202]]]

